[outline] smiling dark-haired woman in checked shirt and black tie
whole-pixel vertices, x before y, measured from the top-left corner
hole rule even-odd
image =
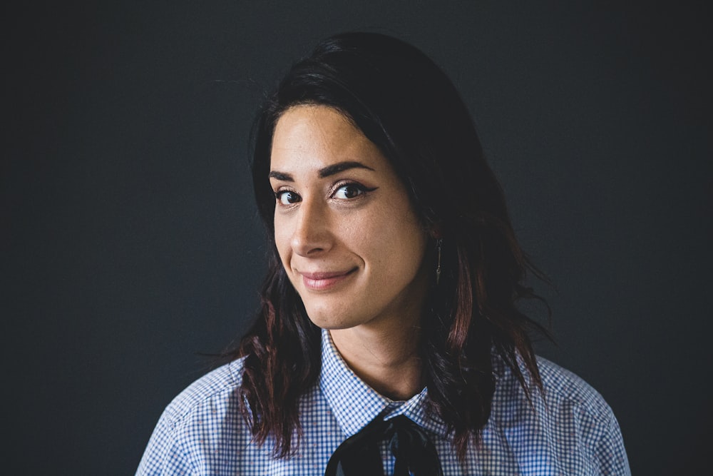
[[[610,407],[536,358],[520,249],[466,106],[424,54],[322,41],[257,121],[270,263],[231,362],[138,474],[630,474]]]

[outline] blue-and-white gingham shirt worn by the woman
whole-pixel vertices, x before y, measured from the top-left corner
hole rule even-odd
[[[362,382],[322,333],[322,374],[299,403],[304,434],[297,453],[271,456],[238,412],[242,360],[208,373],[166,407],[137,475],[323,475],[332,452],[377,415],[406,415],[429,432],[449,475],[630,475],[619,425],[593,388],[573,373],[539,360],[545,399],[533,406],[518,380],[496,360],[498,381],[480,445],[458,459],[443,422],[426,415],[426,390],[394,402]],[[394,460],[381,445],[389,475]]]

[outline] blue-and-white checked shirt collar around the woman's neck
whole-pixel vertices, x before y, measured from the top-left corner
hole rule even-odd
[[[429,432],[446,435],[445,423],[436,415],[431,416],[426,412],[426,388],[405,402],[396,402],[380,395],[349,368],[334,346],[329,330],[324,329],[319,388],[347,437],[359,432],[379,415],[384,420],[405,415]]]

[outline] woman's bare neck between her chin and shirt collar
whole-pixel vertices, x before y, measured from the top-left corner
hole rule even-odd
[[[420,333],[415,325],[394,333],[361,326],[329,333],[349,368],[381,395],[408,400],[423,389]]]

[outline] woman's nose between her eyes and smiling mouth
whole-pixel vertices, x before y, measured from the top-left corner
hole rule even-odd
[[[327,207],[317,201],[302,201],[292,233],[292,250],[301,256],[331,248]]]

